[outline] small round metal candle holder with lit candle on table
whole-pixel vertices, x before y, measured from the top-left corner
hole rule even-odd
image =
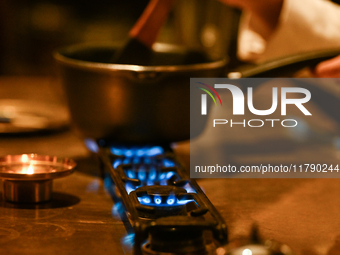
[[[51,199],[52,179],[71,174],[76,163],[37,154],[0,157],[3,197],[9,202],[39,203]]]

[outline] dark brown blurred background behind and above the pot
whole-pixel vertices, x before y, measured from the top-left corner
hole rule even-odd
[[[122,42],[148,0],[2,0],[0,75],[51,75],[52,52],[74,43]],[[239,12],[216,0],[177,1],[159,42],[236,55]],[[233,58],[233,56],[231,56]]]

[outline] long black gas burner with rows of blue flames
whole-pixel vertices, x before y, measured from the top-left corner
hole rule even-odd
[[[227,227],[170,147],[99,148],[115,203],[135,233],[134,254],[207,254],[227,243]]]

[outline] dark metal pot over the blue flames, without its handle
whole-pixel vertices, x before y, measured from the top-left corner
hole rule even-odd
[[[54,55],[82,135],[124,143],[189,139],[190,77],[219,77],[226,59],[163,45],[150,66],[110,64],[116,48],[71,46]]]

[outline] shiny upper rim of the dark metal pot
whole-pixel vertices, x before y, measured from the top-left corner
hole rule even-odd
[[[216,61],[207,63],[197,63],[189,65],[162,65],[162,66],[142,66],[142,65],[130,65],[130,64],[112,64],[112,63],[99,63],[90,62],[85,60],[77,60],[70,57],[66,57],[63,52],[77,51],[85,48],[98,48],[98,47],[115,47],[117,45],[113,43],[82,43],[71,46],[62,47],[54,51],[54,58],[65,65],[77,67],[81,69],[91,69],[98,71],[133,71],[133,72],[181,72],[181,71],[195,71],[195,70],[208,70],[223,68],[226,66],[228,59],[227,57],[221,58]],[[153,49],[157,52],[166,52],[171,49],[181,49],[180,46],[155,43]]]

